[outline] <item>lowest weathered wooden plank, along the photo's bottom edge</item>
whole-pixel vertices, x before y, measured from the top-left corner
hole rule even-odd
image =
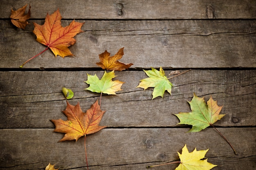
[[[1,129],[0,168],[43,169],[48,162],[61,169],[84,168],[84,140],[57,143],[63,134],[52,133],[52,130]],[[214,168],[216,170],[255,168],[256,128],[219,128],[238,155],[234,155],[225,140],[213,129],[185,133],[187,130],[102,129],[86,137],[90,169],[144,169],[148,165],[175,161],[179,159],[177,151],[181,152],[185,144],[190,152],[195,147],[197,150],[209,148],[206,157],[209,162],[220,165]]]

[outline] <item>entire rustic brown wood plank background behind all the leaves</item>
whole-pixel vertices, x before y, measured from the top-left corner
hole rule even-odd
[[[11,8],[29,3],[31,19],[25,30],[10,22]],[[44,23],[47,13],[60,10],[62,25],[85,22],[83,33],[70,47],[75,57],[54,57],[35,41],[33,22]],[[126,82],[116,96],[104,95],[106,110],[100,125],[88,135],[90,170],[146,169],[175,161],[186,144],[191,152],[209,151],[214,170],[256,168],[256,1],[255,0],[8,0],[0,1],[0,168],[2,170],[55,168],[85,169],[83,139],[58,142],[50,119],[66,119],[61,87],[73,90],[72,105],[83,111],[99,94],[84,89],[87,74],[103,75],[98,55],[112,55],[124,47],[128,71],[115,72]],[[142,69],[162,66],[190,72],[171,79],[171,96],[152,98],[152,88],[136,88],[146,78]],[[216,127],[233,144],[209,127],[186,133],[173,113],[189,112],[187,101],[210,95],[227,114]],[[175,169],[177,164],[152,170]]]

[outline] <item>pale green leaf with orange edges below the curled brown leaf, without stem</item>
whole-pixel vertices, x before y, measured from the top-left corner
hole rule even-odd
[[[121,86],[124,84],[124,82],[119,80],[112,81],[112,78],[116,77],[114,70],[108,73],[105,71],[101,80],[99,80],[96,74],[94,74],[94,76],[87,74],[87,76],[88,79],[85,83],[90,86],[86,88],[86,90],[90,90],[91,92],[115,94],[115,92],[122,90]]]

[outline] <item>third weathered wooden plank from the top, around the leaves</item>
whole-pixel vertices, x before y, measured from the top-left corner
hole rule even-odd
[[[184,70],[180,70],[181,72]],[[166,71],[166,75],[171,71]],[[74,91],[72,105],[80,102],[83,111],[90,108],[100,94],[84,90],[87,73],[101,78],[103,71],[80,72],[0,72],[0,128],[52,128],[50,119],[63,118],[66,107],[61,87]],[[227,114],[216,126],[256,125],[256,70],[191,70],[171,79],[171,96],[152,98],[152,88],[136,88],[146,78],[143,71],[116,72],[124,81],[123,91],[102,97],[101,109],[106,110],[101,121],[109,127],[176,126],[172,113],[189,112],[187,100],[212,95]],[[155,120],[157,118],[157,121]]]

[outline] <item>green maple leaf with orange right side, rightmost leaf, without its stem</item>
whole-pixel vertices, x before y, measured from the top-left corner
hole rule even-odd
[[[189,105],[191,112],[174,114],[180,119],[178,124],[192,125],[189,132],[202,131],[225,116],[225,114],[220,114],[222,106],[218,106],[217,101],[214,101],[212,97],[210,97],[206,104],[204,97],[199,98],[194,94]]]

